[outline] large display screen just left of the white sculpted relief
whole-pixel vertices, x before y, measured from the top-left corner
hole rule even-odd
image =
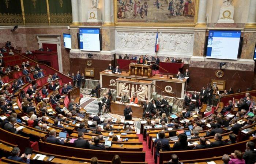
[[[80,50],[100,51],[99,28],[79,28]]]

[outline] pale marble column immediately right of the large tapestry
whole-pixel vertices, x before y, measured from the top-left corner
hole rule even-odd
[[[207,0],[199,0],[196,27],[206,27]]]

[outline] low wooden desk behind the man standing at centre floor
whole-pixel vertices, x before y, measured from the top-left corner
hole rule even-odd
[[[143,108],[140,106],[133,106],[130,105],[132,109],[132,116],[133,117],[138,117],[142,118],[143,115]],[[112,102],[111,103],[111,113],[113,114],[120,114],[124,115],[124,109],[125,109],[125,104],[117,103],[117,102]]]

